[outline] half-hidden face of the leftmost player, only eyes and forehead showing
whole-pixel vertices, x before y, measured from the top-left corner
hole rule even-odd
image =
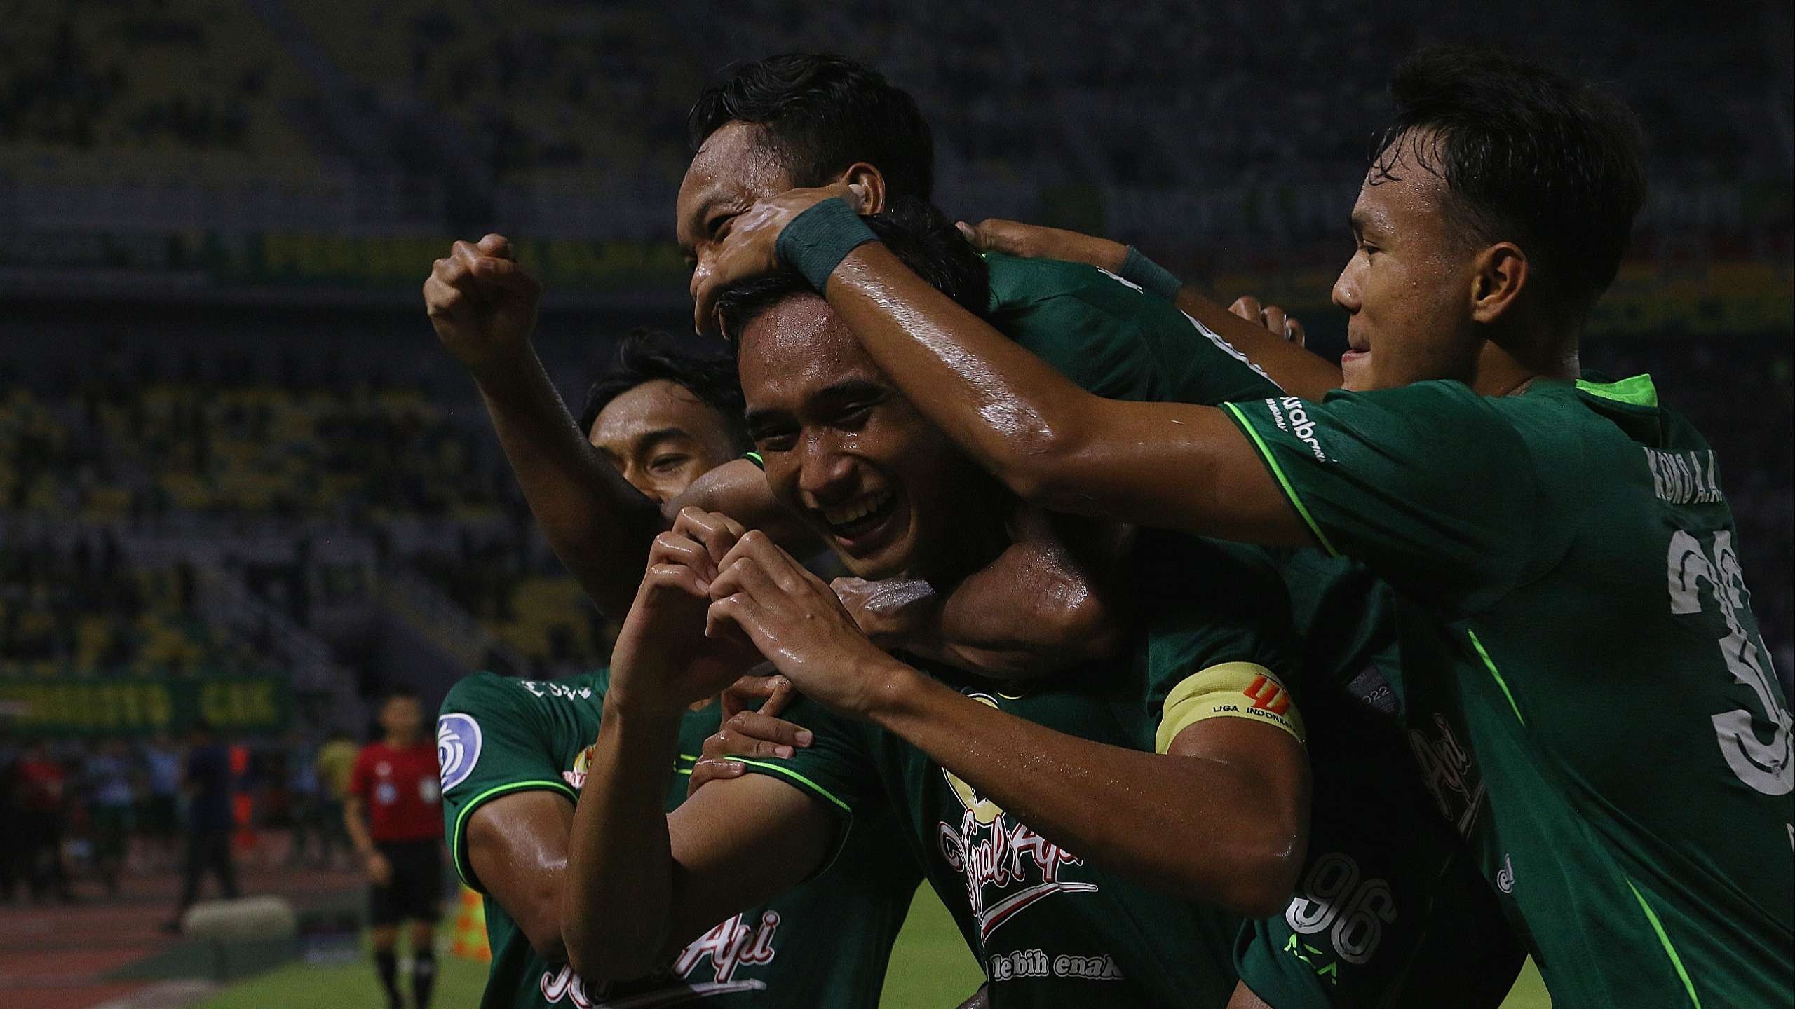
[[[666,379],[607,402],[589,436],[630,487],[659,504],[738,454],[723,417]]]

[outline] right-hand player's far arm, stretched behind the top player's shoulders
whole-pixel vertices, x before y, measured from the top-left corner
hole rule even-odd
[[[1063,228],[1043,228],[1020,221],[1000,221],[996,217],[980,221],[975,226],[962,224],[962,232],[982,250],[1088,262],[1138,284],[1149,293],[1170,300],[1186,316],[1215,330],[1292,395],[1321,399],[1330,390],[1341,386],[1339,368],[1303,350],[1301,341],[1287,338],[1289,334],[1282,325],[1271,325],[1273,320],[1262,318],[1256,309],[1242,311],[1244,305],[1240,302],[1235,302],[1233,309],[1224,311],[1190,284],[1179,284],[1170,273],[1142,257],[1131,246]],[[1242,298],[1242,302],[1246,300]],[[1278,314],[1282,316],[1282,312]],[[1282,320],[1276,321],[1282,323]]]

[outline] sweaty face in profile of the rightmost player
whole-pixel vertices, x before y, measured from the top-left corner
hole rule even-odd
[[[1483,343],[1470,316],[1474,244],[1456,235],[1445,183],[1414,162],[1411,140],[1397,149],[1389,176],[1366,174],[1352,210],[1357,248],[1334,282],[1348,314],[1343,384],[1353,391],[1470,382]]]

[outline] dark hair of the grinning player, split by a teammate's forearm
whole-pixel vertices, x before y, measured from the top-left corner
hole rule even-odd
[[[872,233],[910,268],[975,316],[991,307],[991,273],[966,235],[928,203],[892,201],[885,214],[863,217]],[[716,296],[716,314],[731,347],[736,336],[763,312],[793,294],[811,293],[810,282],[793,269],[779,269],[723,287]]]

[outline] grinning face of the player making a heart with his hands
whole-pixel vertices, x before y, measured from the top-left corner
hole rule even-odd
[[[827,302],[792,296],[740,341],[766,481],[849,571],[944,578],[1002,537],[996,483],[890,386]]]

